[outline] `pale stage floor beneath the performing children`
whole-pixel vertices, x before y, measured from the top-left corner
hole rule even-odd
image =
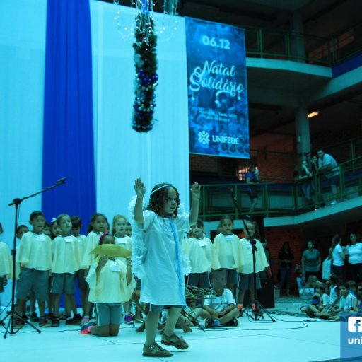
[[[154,361],[325,361],[339,360],[339,322],[308,321],[298,313],[298,298],[276,300],[271,316],[255,321],[244,315],[238,327],[201,329],[182,334],[189,349],[170,347],[172,358]],[[286,313],[281,314],[281,311]],[[0,327],[4,332],[4,327]],[[178,331],[178,332],[181,332]],[[181,333],[180,333],[181,334]],[[4,334],[3,334],[4,335]],[[160,339],[160,337],[158,337]],[[0,361],[145,361],[141,356],[144,334],[122,325],[117,337],[79,334],[78,327],[43,328],[38,334],[30,326],[0,339]],[[147,361],[147,359],[146,359]]]

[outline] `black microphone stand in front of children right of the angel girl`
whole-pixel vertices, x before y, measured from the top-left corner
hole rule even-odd
[[[241,211],[240,211],[240,208],[239,208],[239,205],[238,205],[238,201],[235,197],[235,194],[233,192],[233,189],[229,189],[230,191],[230,194],[231,194],[231,197],[233,199],[233,202],[235,204],[235,208],[236,210],[238,211],[238,216],[240,216],[240,219],[241,221],[243,221],[243,225],[244,225],[244,230],[245,230],[245,233],[247,233],[247,237],[249,238],[250,240],[250,244],[252,245],[252,278],[253,278],[253,284],[254,284],[254,300],[250,300],[250,303],[249,305],[247,305],[247,308],[246,309],[252,309],[252,305],[255,305],[255,309],[252,310],[252,314],[248,314],[246,311],[245,311],[245,314],[248,316],[248,317],[251,317],[251,318],[254,318],[254,320],[259,320],[260,318],[264,319],[264,314],[266,314],[270,320],[272,322],[276,322],[276,320],[274,320],[273,317],[271,317],[271,315],[269,314],[269,312],[264,308],[264,306],[259,303],[259,300],[257,300],[257,279],[256,279],[256,262],[255,262],[255,252],[257,252],[257,247],[256,247],[256,244],[257,242],[255,241],[255,239],[252,238],[252,235],[250,235],[250,232],[249,230],[247,229],[247,226],[246,226],[246,223],[245,223],[245,219],[241,217]],[[240,274],[239,274],[239,281],[240,281]],[[238,303],[238,296],[239,296],[239,292],[240,292],[240,289],[239,289],[239,283],[238,283],[238,287],[236,289],[236,300],[237,300],[237,303]]]

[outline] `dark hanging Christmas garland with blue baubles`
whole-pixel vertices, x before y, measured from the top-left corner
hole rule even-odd
[[[137,132],[148,132],[153,127],[153,110],[156,105],[155,89],[158,84],[156,44],[153,19],[145,12],[136,15],[134,36],[134,105],[132,128]]]

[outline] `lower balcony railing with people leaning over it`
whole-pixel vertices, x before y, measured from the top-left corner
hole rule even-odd
[[[339,165],[339,192],[337,201],[362,195],[362,156],[358,156]],[[329,182],[323,175],[315,175],[313,180],[313,202],[305,199],[300,182],[259,182],[259,200],[252,215],[290,216],[303,214],[310,209],[330,204],[333,197]],[[199,216],[204,221],[218,220],[222,215],[230,214],[238,218],[233,197],[243,214],[250,214],[250,199],[247,184],[202,185],[202,199]]]

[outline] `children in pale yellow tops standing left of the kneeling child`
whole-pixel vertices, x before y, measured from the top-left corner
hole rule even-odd
[[[77,312],[76,306],[76,279],[78,289],[81,291],[83,322],[88,322],[93,303],[90,303],[92,300],[88,298],[89,281],[86,281],[86,276],[95,259],[90,252],[102,243],[100,236],[109,229],[107,219],[102,214],[94,214],[88,226],[87,236],[80,233],[82,225],[79,216],[70,217],[67,214],[60,214],[57,219],[48,224],[41,211],[34,211],[30,214],[29,223],[32,226],[31,231],[25,225],[18,226],[16,230],[20,243],[16,247],[15,279],[17,284],[14,328],[21,328],[28,319],[30,322],[39,322],[40,327],[58,327],[59,320],[62,319],[66,320],[66,325],[80,325],[82,317]],[[120,223],[122,226],[119,226]],[[132,229],[130,224],[127,224],[126,218],[115,216],[112,228],[117,228],[114,231],[115,236],[112,236],[115,243],[131,250],[132,240],[126,233],[132,233]],[[105,239],[107,241],[107,238]],[[0,291],[2,291],[7,278],[12,277],[13,263],[7,245],[0,243],[0,247],[2,286]],[[124,259],[122,263],[126,264],[127,261]],[[124,274],[123,270],[119,270],[119,276],[121,274]],[[59,315],[63,294],[65,312],[64,315]],[[130,296],[122,301],[128,302],[129,299]],[[26,315],[27,300],[30,300],[29,316]],[[35,312],[36,300],[39,317]],[[47,313],[45,313],[46,307]],[[124,310],[127,310],[127,305],[124,306]]]

